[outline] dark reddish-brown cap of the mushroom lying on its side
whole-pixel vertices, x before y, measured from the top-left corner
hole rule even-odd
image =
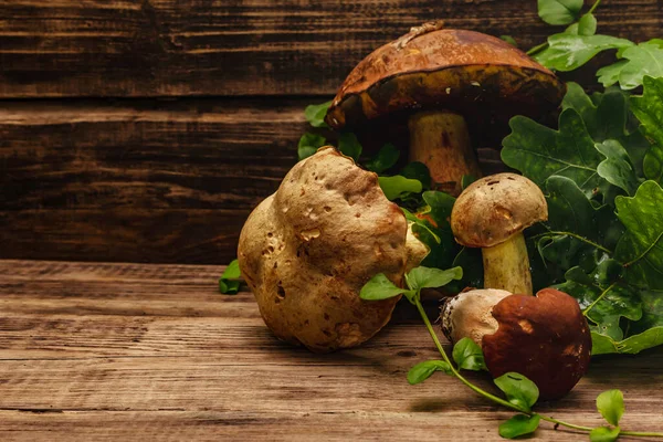
[[[539,388],[541,399],[568,393],[587,372],[591,335],[578,302],[554,288],[536,296],[512,295],[493,307],[498,328],[483,337],[493,377],[519,372]]]

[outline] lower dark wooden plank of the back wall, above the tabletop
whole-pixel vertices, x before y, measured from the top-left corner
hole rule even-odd
[[[0,257],[229,262],[295,164],[308,103],[4,102]]]

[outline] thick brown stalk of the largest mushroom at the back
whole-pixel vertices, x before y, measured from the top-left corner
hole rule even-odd
[[[440,190],[457,197],[464,175],[481,177],[465,119],[449,110],[423,110],[410,117],[410,161],[428,166]]]

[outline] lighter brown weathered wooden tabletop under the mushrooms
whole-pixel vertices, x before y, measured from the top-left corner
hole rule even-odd
[[[313,355],[277,341],[251,294],[219,295],[221,271],[0,261],[0,439],[501,440],[511,413],[459,382],[408,386],[408,369],[435,358],[409,305],[366,345]],[[661,364],[660,350],[599,358],[539,411],[599,425],[596,394],[619,387],[622,428],[661,430]],[[537,435],[586,440],[548,424]]]

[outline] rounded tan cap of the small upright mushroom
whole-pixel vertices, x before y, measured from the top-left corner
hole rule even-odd
[[[548,219],[541,190],[516,173],[497,173],[470,185],[451,211],[451,230],[460,244],[490,248]]]

